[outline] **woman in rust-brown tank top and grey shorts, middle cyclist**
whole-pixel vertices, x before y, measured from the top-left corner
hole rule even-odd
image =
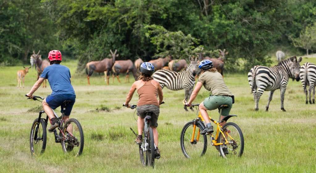
[[[135,142],[137,144],[142,143],[142,134],[145,123],[145,112],[152,111],[151,121],[149,126],[153,129],[154,141],[156,146],[156,158],[160,158],[160,150],[158,149],[158,131],[157,131],[157,120],[159,116],[159,105],[162,102],[163,94],[159,82],[155,81],[151,75],[154,73],[155,67],[148,62],[142,63],[140,66],[141,75],[138,81],[135,81],[127,94],[126,101],[124,105],[130,107],[130,101],[133,97],[135,90],[138,93],[137,102],[137,128],[138,137]],[[159,102],[157,100],[157,95],[159,96]]]

